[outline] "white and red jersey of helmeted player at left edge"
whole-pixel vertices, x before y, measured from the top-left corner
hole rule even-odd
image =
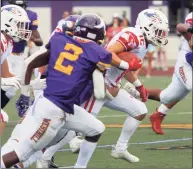
[[[13,41],[8,40],[3,33],[1,33],[1,64],[11,54],[13,49]]]

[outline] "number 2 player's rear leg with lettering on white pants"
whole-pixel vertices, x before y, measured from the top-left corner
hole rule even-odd
[[[46,106],[43,106],[46,105]],[[11,167],[26,161],[33,153],[43,149],[64,125],[64,112],[42,95],[32,106],[33,114],[24,119],[18,143],[12,144],[13,151],[2,154],[1,164]]]

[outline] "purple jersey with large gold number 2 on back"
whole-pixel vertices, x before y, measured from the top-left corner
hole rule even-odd
[[[84,89],[92,80],[97,64],[111,63],[112,55],[94,42],[82,42],[55,33],[49,42],[47,88],[44,96],[67,113],[73,114]]]

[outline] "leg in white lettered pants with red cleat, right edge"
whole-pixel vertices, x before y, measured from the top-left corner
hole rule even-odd
[[[184,54],[184,51],[181,51],[179,57],[183,57]],[[162,104],[150,116],[153,131],[157,134],[164,134],[161,129],[161,123],[166,113],[180,100],[186,97],[191,90],[192,68],[186,61],[179,60],[176,63],[175,73],[173,74],[170,85],[162,92],[157,92],[156,97],[159,98]]]

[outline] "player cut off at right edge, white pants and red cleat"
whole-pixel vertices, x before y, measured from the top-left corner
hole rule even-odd
[[[184,39],[175,65],[172,82],[164,90],[149,90],[149,97],[161,102],[161,105],[150,116],[152,129],[157,134],[164,134],[161,123],[167,112],[180,100],[184,99],[192,91],[192,46],[191,33],[193,27],[193,13],[186,16],[185,24],[178,24],[177,31]]]

